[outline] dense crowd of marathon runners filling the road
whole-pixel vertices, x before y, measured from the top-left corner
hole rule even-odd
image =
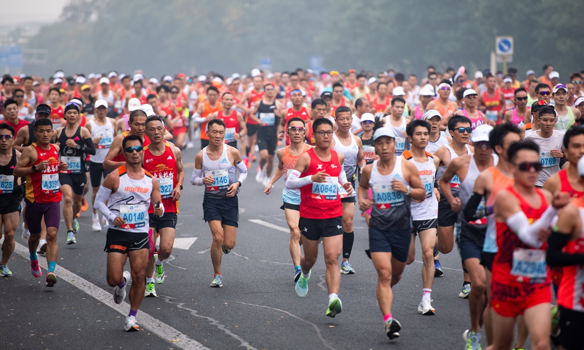
[[[545,65],[523,81],[514,68],[477,71],[471,80],[464,67],[440,73],[432,66],[420,81],[353,69],[160,80],[141,71],[5,75],[0,276],[12,276],[7,264],[22,212],[30,271],[41,277],[44,255],[53,287],[58,243],[77,244],[77,218],[91,202],[92,229],[107,226],[107,283],[116,303],[134,281],[124,329],[139,330],[142,298],[157,296],[172,252],[182,150],[198,148],[198,139],[190,183],[205,187],[211,287],[224,286],[221,259],[235,246],[237,195],[257,166],[266,195],[284,176],[281,201],[273,202],[290,227],[299,297],[308,293],[322,243],[326,316],[342,311],[341,275],[357,273],[350,257],[361,215],[390,339],[402,327],[392,287],[415,260],[417,237],[417,311],[425,316],[436,313],[440,254],[456,241],[464,271],[458,297],[468,299],[471,320],[466,350],[481,349],[482,327],[488,349],[522,349],[528,337],[533,349],[584,349],[583,74],[561,80]],[[58,242],[61,211],[67,240]],[[128,258],[131,271],[124,271]]]

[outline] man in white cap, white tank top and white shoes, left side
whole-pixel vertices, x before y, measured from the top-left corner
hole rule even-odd
[[[98,194],[99,186],[102,182],[102,177],[112,172],[112,170],[103,169],[103,160],[106,159],[107,152],[109,152],[110,145],[113,142],[114,125],[111,118],[107,118],[107,102],[105,100],[95,101],[93,106],[93,119],[85,124],[85,127],[91,132],[91,138],[95,145],[95,156],[91,156],[89,160],[89,178],[91,180],[91,187],[93,188],[91,194],[91,205],[93,207],[92,215],[92,229],[94,231],[101,231],[102,226],[99,223],[98,208],[95,207],[95,195]],[[103,222],[107,226],[107,218],[103,216]]]

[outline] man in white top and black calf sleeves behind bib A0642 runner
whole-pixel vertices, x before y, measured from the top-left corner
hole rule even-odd
[[[335,121],[339,126],[333,133],[333,139],[329,148],[336,150],[345,155],[345,173],[347,180],[355,188],[355,180],[357,178],[357,164],[359,170],[365,166],[366,160],[363,157],[363,142],[357,136],[351,134],[352,124],[351,108],[347,106],[340,106],[335,110]],[[353,232],[353,216],[355,214],[355,198],[356,191],[353,194],[346,195],[344,188],[339,186],[339,193],[341,196],[345,192],[345,197],[340,198],[343,203],[343,262],[340,264],[340,272],[343,274],[354,274],[355,270],[349,263],[351,251],[353,250],[353,241],[355,234]]]

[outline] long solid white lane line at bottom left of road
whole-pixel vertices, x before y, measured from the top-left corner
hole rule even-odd
[[[18,253],[22,257],[26,258],[27,260],[30,260],[29,250],[22,244],[16,243],[14,251],[15,253]],[[39,256],[39,265],[41,265],[44,268],[44,266],[47,265],[46,258]],[[112,294],[110,294],[104,289],[99,288],[98,286],[87,281],[86,279],[81,278],[80,276],[74,274],[68,269],[61,267],[60,265],[57,265],[57,267],[55,268],[55,272],[57,272],[58,278],[62,279],[63,281],[67,281],[71,285],[77,287],[78,289],[81,289],[82,291],[99,300],[103,304],[106,304],[112,309],[118,311],[120,314],[127,316],[130,310],[130,304],[126,302],[123,302],[121,304],[114,303]],[[170,344],[177,348],[185,350],[210,350],[200,342],[187,337],[182,332],[179,332],[178,330],[169,326],[168,324],[160,320],[157,320],[156,318],[150,316],[149,314],[145,313],[142,310],[140,310],[140,314],[138,315],[138,324],[140,324],[144,328],[148,328],[154,334],[158,335],[158,337],[161,337],[162,339],[168,341]],[[120,321],[120,328],[121,325],[122,324]],[[173,341],[171,342],[171,340]]]

